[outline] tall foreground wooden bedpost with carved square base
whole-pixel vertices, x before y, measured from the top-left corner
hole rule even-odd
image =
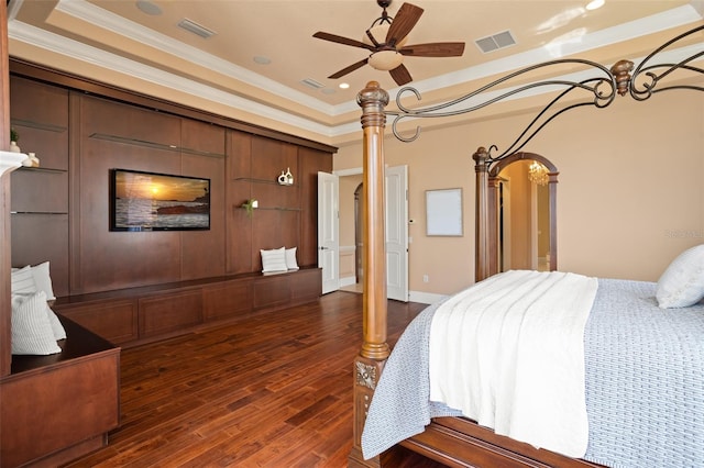
[[[363,342],[354,360],[354,442],[350,467],[380,467],[380,457],[364,460],[362,430],[376,382],[391,350],[386,343],[386,243],[384,234],[384,107],[388,93],[378,82],[370,81],[358,94],[362,108],[364,134],[364,204],[363,244],[364,305],[362,311]]]

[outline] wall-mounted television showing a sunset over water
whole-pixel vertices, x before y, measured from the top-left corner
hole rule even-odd
[[[110,170],[110,231],[210,229],[210,179]]]

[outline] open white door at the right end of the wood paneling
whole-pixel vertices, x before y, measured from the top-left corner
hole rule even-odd
[[[340,289],[340,179],[318,172],[318,267],[322,268],[322,293]]]

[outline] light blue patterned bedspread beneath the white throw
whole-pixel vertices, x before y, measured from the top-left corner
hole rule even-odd
[[[590,443],[609,467],[704,467],[704,304],[662,310],[656,283],[600,279],[584,332]],[[428,400],[428,307],[398,339],[362,434],[365,458],[459,411]],[[549,447],[548,447],[549,448]]]

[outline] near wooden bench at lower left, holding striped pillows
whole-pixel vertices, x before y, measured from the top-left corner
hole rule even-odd
[[[50,356],[12,356],[0,380],[0,466],[54,467],[108,443],[120,423],[120,348],[66,317]]]

